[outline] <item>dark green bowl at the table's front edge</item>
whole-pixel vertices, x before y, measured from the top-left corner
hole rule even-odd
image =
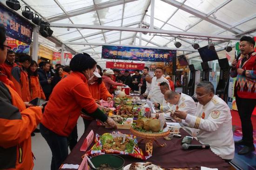
[[[123,170],[124,159],[117,155],[98,155],[91,158],[96,170]],[[95,170],[94,168],[92,168]]]

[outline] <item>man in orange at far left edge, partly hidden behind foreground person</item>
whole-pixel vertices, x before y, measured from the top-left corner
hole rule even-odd
[[[2,71],[2,73],[7,75],[7,78],[10,78],[12,68],[17,65],[16,63],[14,63],[14,61],[15,53],[13,51],[8,51],[5,62],[0,65],[0,70]]]

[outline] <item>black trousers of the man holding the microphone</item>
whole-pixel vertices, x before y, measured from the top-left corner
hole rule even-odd
[[[241,119],[243,141],[246,146],[253,146],[253,127],[251,115],[256,105],[256,99],[239,98],[236,95],[236,106]]]

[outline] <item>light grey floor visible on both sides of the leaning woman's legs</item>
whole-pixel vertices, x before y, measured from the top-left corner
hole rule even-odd
[[[82,118],[78,119],[77,130],[79,139],[84,131]],[[35,133],[35,136],[32,137],[32,151],[36,158],[36,160],[34,160],[33,170],[50,170],[52,153],[48,144],[40,133]]]

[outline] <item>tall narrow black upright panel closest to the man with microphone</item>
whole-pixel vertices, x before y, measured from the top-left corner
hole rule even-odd
[[[216,95],[222,98],[226,103],[228,102],[229,91],[229,60],[227,58],[218,60],[220,65],[219,83],[216,88]]]

